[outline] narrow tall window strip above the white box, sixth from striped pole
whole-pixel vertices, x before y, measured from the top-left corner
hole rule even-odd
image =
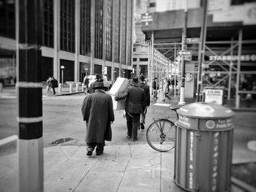
[[[119,57],[120,57],[120,1],[114,1],[114,6],[116,7],[115,12],[115,55],[114,55],[114,61],[116,63],[119,63]]]

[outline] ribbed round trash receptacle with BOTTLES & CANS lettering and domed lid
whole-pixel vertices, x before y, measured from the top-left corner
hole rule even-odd
[[[176,185],[187,191],[230,191],[232,110],[214,103],[181,107],[176,123]]]

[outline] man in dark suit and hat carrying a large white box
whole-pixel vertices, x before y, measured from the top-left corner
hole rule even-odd
[[[138,77],[132,78],[132,86],[127,88],[121,96],[116,96],[116,101],[127,98],[125,104],[125,115],[127,118],[127,137],[132,141],[137,140],[138,126],[140,124],[140,113],[143,112],[144,90],[138,87]]]

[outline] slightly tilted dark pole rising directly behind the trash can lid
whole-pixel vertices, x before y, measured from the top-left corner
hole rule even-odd
[[[202,64],[205,57],[206,47],[206,30],[207,30],[207,1],[203,1],[203,23],[200,34],[200,54],[198,58],[198,70],[197,70],[197,101],[201,101],[201,85],[202,85]]]

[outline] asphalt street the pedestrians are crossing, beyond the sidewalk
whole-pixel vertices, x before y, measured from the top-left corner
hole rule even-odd
[[[50,147],[62,143],[62,145],[85,145],[86,135],[85,122],[80,112],[84,94],[69,96],[42,96],[43,106],[43,137],[44,146]],[[0,139],[18,135],[18,108],[15,96],[0,99]],[[175,119],[176,115],[168,107],[156,106],[151,102],[146,116],[146,128],[153,122],[153,118],[170,117]],[[111,145],[127,145],[126,119],[123,111],[115,111],[116,120],[112,124],[113,139]],[[247,142],[256,139],[255,112],[238,112],[233,118],[235,131],[233,148],[248,150]],[[63,143],[65,142],[65,143]],[[138,141],[132,145],[146,144],[146,131],[138,131]],[[106,143],[108,145],[108,142]],[[0,146],[0,155],[14,153],[16,142],[8,142]]]

